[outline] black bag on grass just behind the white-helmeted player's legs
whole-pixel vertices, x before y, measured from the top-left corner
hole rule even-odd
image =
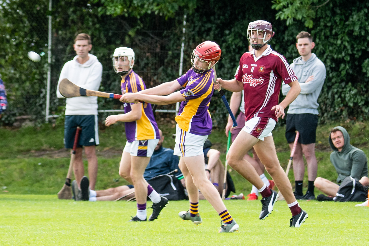
[[[180,180],[170,174],[155,176],[147,181],[154,190],[171,201],[187,200]]]

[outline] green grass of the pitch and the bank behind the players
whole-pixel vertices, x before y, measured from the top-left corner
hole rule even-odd
[[[96,188],[127,184],[118,175],[118,163],[125,143],[123,124],[101,129],[97,147],[99,171]],[[172,148],[173,119],[159,122],[164,146]],[[341,122],[319,126],[316,156],[318,176],[335,181],[330,163],[328,134],[332,127],[344,126],[351,143],[369,156],[368,122]],[[309,218],[301,228],[289,228],[290,211],[279,201],[273,213],[259,221],[260,201],[227,200],[225,205],[240,225],[237,233],[218,234],[220,219],[207,201],[200,201],[204,223],[194,226],[181,221],[179,211],[188,201],[170,201],[154,222],[129,223],[135,215],[134,202],[75,202],[58,200],[69,166],[69,151],[63,149],[63,126],[0,128],[0,245],[366,245],[367,207],[355,202],[300,201]],[[290,150],[284,127],[273,131],[277,155],[286,168]],[[227,137],[223,129],[209,136],[213,148],[225,160]],[[87,161],[85,160],[85,167]],[[231,169],[230,169],[231,170]],[[251,184],[231,170],[236,194],[249,193]],[[307,186],[305,173],[304,189]],[[268,176],[268,174],[267,174]],[[293,170],[289,179],[294,186]],[[317,191],[315,195],[319,194]],[[148,207],[151,202],[148,202]],[[151,209],[148,209],[148,214]]]

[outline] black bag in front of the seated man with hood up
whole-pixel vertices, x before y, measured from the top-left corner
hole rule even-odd
[[[368,186],[351,176],[345,177],[336,194],[336,202],[365,202],[368,197]]]

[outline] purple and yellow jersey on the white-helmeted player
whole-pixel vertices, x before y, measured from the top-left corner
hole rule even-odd
[[[121,81],[120,87],[122,94],[146,89],[144,81],[133,70]],[[131,111],[131,104],[134,103],[124,103],[125,114]],[[151,104],[148,103],[146,108],[142,104],[141,111],[142,116],[138,121],[124,122],[125,135],[130,143],[137,140],[160,139],[158,125],[156,124]]]

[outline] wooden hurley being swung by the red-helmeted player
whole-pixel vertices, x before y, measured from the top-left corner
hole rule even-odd
[[[70,98],[70,97],[105,97],[105,98],[114,98],[114,99],[120,99],[123,95],[120,94],[114,94],[114,93],[107,93],[102,91],[94,91],[94,90],[88,90],[83,89],[76,84],[73,84],[68,79],[62,79],[62,81],[59,84],[59,91],[62,94],[63,97]],[[147,103],[143,101],[139,101],[140,103],[144,104],[144,107],[147,107]]]

